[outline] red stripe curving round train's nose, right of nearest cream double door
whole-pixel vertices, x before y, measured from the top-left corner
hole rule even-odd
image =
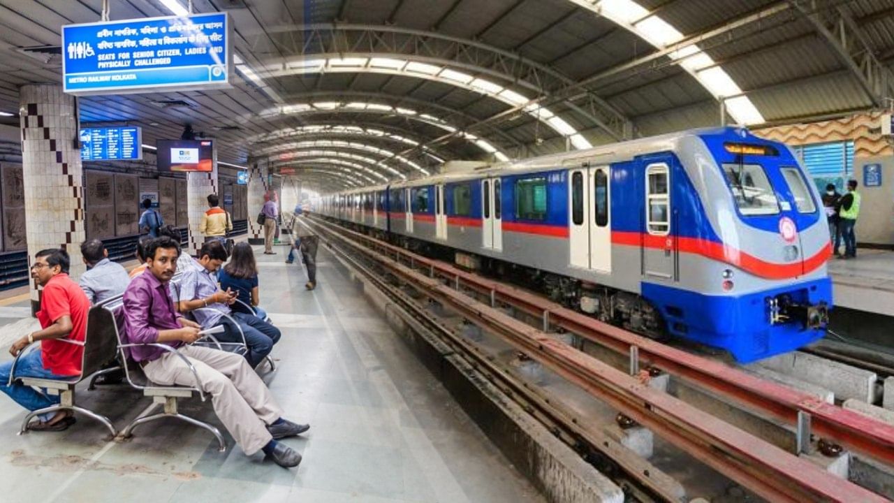
[[[613,244],[644,246],[645,248],[661,250],[672,249],[674,247],[675,239],[678,240],[677,246],[679,247],[680,252],[693,253],[702,255],[708,259],[726,262],[738,269],[754,274],[755,276],[766,277],[768,279],[788,279],[790,277],[802,276],[813,272],[820,268],[826,260],[829,260],[829,257],[831,257],[832,254],[831,244],[826,243],[826,245],[822,247],[822,250],[806,258],[803,262],[798,261],[790,264],[780,264],[758,259],[754,255],[742,252],[730,245],[706,239],[629,232],[611,233],[611,243]]]

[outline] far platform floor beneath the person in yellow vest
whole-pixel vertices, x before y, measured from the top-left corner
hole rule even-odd
[[[894,316],[894,252],[858,249],[856,259],[829,260],[834,303]]]

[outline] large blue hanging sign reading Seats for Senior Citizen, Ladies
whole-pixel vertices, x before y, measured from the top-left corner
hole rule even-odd
[[[63,88],[76,95],[228,87],[227,13],[62,27]]]

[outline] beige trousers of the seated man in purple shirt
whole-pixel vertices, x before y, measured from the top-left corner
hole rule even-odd
[[[266,425],[283,417],[283,409],[245,357],[194,345],[181,346],[178,351],[195,367],[200,381],[197,388],[211,395],[217,417],[245,454],[251,456],[266,446],[273,439]],[[195,386],[195,376],[176,354],[165,352],[148,362],[143,371],[162,386]]]

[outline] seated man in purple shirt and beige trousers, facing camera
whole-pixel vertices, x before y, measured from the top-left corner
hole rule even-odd
[[[174,311],[168,288],[179,255],[180,244],[167,236],[149,243],[147,272],[135,277],[124,293],[124,337],[130,344],[177,348],[195,367],[199,382],[193,382],[179,356],[156,346],[134,347],[130,357],[157,384],[198,385],[209,393],[217,417],[247,455],[263,450],[277,465],[298,466],[301,456],[275,439],[299,435],[310,426],[283,419],[264,381],[240,355],[190,345],[199,338],[198,324]]]

